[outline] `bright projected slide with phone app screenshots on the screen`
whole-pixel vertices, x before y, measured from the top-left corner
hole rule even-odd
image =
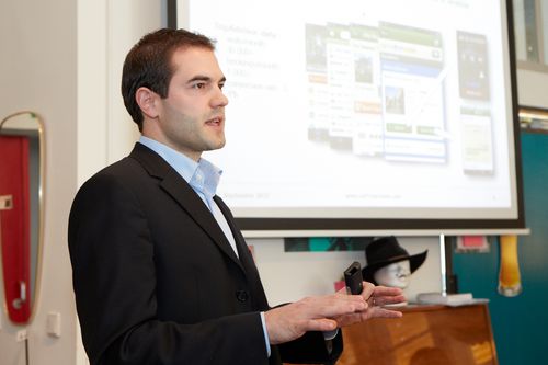
[[[227,77],[236,217],[517,217],[506,3],[181,0]]]

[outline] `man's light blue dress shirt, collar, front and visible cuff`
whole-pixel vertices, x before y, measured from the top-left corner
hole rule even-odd
[[[212,212],[215,220],[219,225],[220,229],[225,233],[228,242],[232,247],[236,255],[238,255],[238,249],[236,248],[236,240],[230,226],[228,226],[227,218],[217,203],[213,199],[217,191],[217,185],[219,184],[220,175],[222,170],[217,168],[212,162],[201,158],[198,162],[186,157],[185,155],[168,147],[157,140],[141,136],[139,142],[147,146],[161,158],[165,160],[175,171],[191,185],[191,187],[198,194],[204,204],[207,206],[209,212]],[[266,332],[266,324],[264,321],[264,312],[261,312],[261,321],[263,324],[264,341],[266,343],[267,355],[271,355],[271,347],[269,343],[269,333]]]

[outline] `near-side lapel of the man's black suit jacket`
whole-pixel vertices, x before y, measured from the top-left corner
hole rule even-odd
[[[141,144],[135,145],[129,157],[139,161],[151,176],[159,179],[160,186],[179,203],[218,248],[243,270],[213,214],[191,185],[165,160]]]

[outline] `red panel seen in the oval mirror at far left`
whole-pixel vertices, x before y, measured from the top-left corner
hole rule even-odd
[[[25,323],[31,316],[31,213],[28,139],[0,136],[0,242],[8,316]]]

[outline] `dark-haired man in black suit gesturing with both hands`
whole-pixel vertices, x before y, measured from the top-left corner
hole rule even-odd
[[[142,136],[78,192],[69,220],[77,309],[92,364],[334,363],[338,328],[404,300],[362,295],[271,308],[244,239],[201,158],[225,145],[225,77],[205,36],[146,35],[124,64],[122,93]]]

